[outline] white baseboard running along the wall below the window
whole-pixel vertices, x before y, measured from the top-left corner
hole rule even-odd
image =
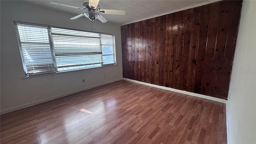
[[[22,108],[27,108],[27,107],[29,107],[29,106],[34,106],[34,105],[36,105],[36,104],[40,104],[40,103],[43,103],[43,102],[48,102],[48,101],[50,101],[50,100],[54,100],[54,99],[57,99],[57,98],[61,98],[61,97],[64,97],[64,96],[68,96],[68,95],[70,95],[70,94],[75,94],[75,93],[78,93],[78,92],[82,92],[82,91],[84,91],[84,90],[89,90],[89,89],[91,89],[91,88],[96,88],[96,87],[98,87],[98,86],[102,86],[102,85],[105,85],[105,84],[109,84],[109,83],[112,83],[112,82],[116,82],[116,81],[122,80],[122,79],[123,79],[123,78],[118,78],[118,79],[111,80],[111,81],[108,81],[108,82],[103,82],[103,83],[101,83],[101,84],[96,84],[96,85],[94,85],[94,86],[89,86],[89,87],[82,88],[82,89],[79,89],[79,90],[74,90],[74,91],[72,91],[72,92],[68,92],[68,93],[65,93],[65,94],[60,94],[60,95],[58,95],[58,96],[53,96],[53,97],[46,98],[46,99],[43,99],[43,100],[38,100],[38,101],[35,101],[35,102],[30,102],[30,103],[28,103],[28,104],[23,104],[23,105],[21,105],[21,106],[16,106],[16,107],[14,107],[14,108],[8,108],[8,109],[6,109],[6,110],[1,110],[1,111],[0,111],[0,114],[6,114],[6,113],[8,113],[8,112],[13,112],[13,111],[15,111],[15,110],[20,110],[20,109],[22,109]]]

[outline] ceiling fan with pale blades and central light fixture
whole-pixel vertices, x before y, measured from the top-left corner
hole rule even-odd
[[[57,4],[59,6],[66,6],[66,7],[70,7],[70,8],[76,8],[79,10],[86,10],[88,12],[84,12],[82,14],[79,14],[77,16],[74,16],[73,18],[70,18],[70,20],[75,20],[77,18],[80,18],[81,16],[86,16],[86,18],[89,18],[90,20],[100,20],[101,22],[105,23],[108,20],[106,20],[106,18],[104,18],[101,14],[97,13],[97,12],[101,12],[103,14],[117,14],[117,15],[125,15],[125,11],[124,10],[106,10],[106,9],[100,9],[100,6],[98,5],[100,0],[89,0],[89,1],[85,1],[83,3],[83,8],[79,8],[76,6],[69,6],[66,4],[58,4],[55,2],[50,2],[51,4]]]

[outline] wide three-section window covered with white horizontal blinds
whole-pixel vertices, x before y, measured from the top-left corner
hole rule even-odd
[[[114,35],[15,22],[26,76],[114,65]]]

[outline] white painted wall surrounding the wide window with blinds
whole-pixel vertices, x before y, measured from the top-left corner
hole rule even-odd
[[[0,1],[1,5],[1,114],[66,96],[88,88],[122,79],[120,25],[93,22],[95,32],[115,34],[117,66],[64,72],[35,78],[24,77],[13,21],[31,22],[91,31],[87,18],[70,20],[74,15],[18,1]],[[85,83],[82,83],[85,79]]]

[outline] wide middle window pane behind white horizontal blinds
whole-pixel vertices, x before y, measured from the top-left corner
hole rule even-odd
[[[58,71],[101,66],[100,34],[51,28]]]

